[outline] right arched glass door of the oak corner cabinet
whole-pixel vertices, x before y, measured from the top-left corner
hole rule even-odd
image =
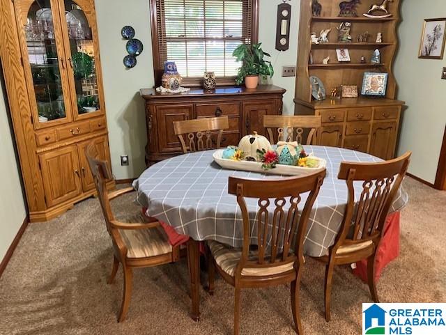
[[[73,115],[75,119],[97,116],[103,112],[103,101],[93,1],[59,1]]]

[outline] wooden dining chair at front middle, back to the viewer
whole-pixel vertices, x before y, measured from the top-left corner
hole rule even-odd
[[[323,178],[325,170],[305,177],[271,180],[229,177],[229,194],[237,196],[243,217],[243,247],[235,249],[208,241],[208,288],[213,294],[215,267],[223,279],[235,287],[234,334],[239,332],[241,288],[263,288],[291,282],[295,330],[302,335],[299,286],[304,265],[303,242]],[[301,194],[306,192],[309,194],[300,212]],[[257,199],[259,211],[255,223],[249,221],[245,198]],[[252,238],[257,241],[256,249],[249,245]]]

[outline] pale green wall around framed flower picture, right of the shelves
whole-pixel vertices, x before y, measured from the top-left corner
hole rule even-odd
[[[442,61],[418,59],[423,20],[446,17],[445,0],[403,0],[399,26],[400,47],[394,65],[398,98],[406,101],[399,154],[413,152],[409,172],[434,182],[446,123],[446,80],[440,79]]]

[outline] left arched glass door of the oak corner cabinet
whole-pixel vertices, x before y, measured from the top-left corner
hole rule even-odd
[[[70,88],[58,3],[16,0],[15,10],[34,127],[70,122]]]

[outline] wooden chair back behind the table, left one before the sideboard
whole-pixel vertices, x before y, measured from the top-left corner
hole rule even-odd
[[[187,148],[190,152],[209,150],[213,148],[213,143],[216,148],[220,148],[222,143],[223,130],[229,128],[229,119],[227,116],[220,116],[217,118],[199,118],[197,120],[174,121],[175,134],[180,139],[183,152],[187,153]],[[218,131],[217,141],[212,139],[213,132]],[[187,135],[187,139],[183,137]],[[206,136],[206,139],[203,137]],[[186,144],[187,141],[187,144]],[[195,143],[197,141],[197,143]]]

